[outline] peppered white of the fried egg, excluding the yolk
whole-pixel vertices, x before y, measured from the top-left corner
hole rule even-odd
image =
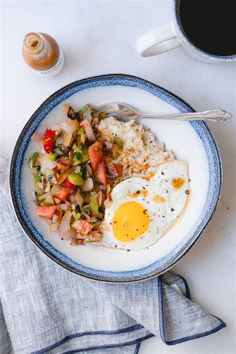
[[[172,185],[176,178],[183,179],[183,185],[177,189]],[[103,238],[95,245],[138,250],[156,243],[183,215],[189,194],[188,165],[180,160],[159,164],[146,179],[131,177],[120,182],[111,193],[113,204],[105,211]],[[164,201],[160,201],[162,198]],[[120,242],[114,236],[112,222],[118,207],[126,202],[140,204],[146,210],[149,224],[147,230],[136,239]],[[135,224],[135,214],[132,218]]]

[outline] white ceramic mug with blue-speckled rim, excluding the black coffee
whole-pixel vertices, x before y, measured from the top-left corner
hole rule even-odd
[[[138,53],[143,57],[150,57],[182,46],[190,56],[200,61],[211,63],[236,61],[236,55],[217,56],[208,54],[188,39],[179,20],[179,2],[180,0],[173,1],[173,19],[170,23],[154,28],[137,39],[136,49]]]

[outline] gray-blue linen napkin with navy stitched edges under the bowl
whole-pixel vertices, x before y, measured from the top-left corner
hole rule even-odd
[[[180,276],[106,284],[57,265],[21,231],[7,171],[0,157],[0,353],[133,354],[152,336],[173,345],[226,326],[190,300]]]

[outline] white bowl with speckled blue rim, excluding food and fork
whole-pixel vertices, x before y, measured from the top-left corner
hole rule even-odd
[[[25,234],[51,259],[81,276],[107,282],[133,282],[157,276],[179,261],[199,239],[214,215],[222,186],[220,154],[205,122],[146,122],[157,138],[189,164],[191,201],[184,217],[165,236],[138,251],[70,246],[47,232],[35,217],[27,159],[30,140],[42,125],[60,121],[62,102],[79,109],[86,103],[124,102],[147,114],[194,111],[173,93],[124,74],[108,74],[71,83],[51,95],[29,118],[16,142],[10,164],[10,193],[15,215]],[[20,181],[20,183],[19,183]],[[25,186],[28,186],[27,188]]]

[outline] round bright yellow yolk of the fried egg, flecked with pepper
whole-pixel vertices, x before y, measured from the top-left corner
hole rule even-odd
[[[114,236],[121,242],[129,242],[147,230],[147,211],[136,202],[121,204],[113,219]]]

